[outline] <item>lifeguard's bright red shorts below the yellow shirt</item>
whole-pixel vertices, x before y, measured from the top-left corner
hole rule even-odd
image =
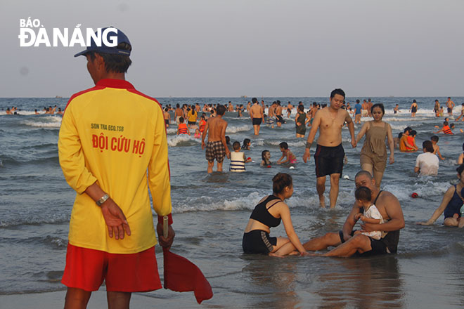
[[[66,287],[97,291],[143,292],[161,289],[155,246],[136,254],[105,251],[67,244],[66,267],[61,282]]]

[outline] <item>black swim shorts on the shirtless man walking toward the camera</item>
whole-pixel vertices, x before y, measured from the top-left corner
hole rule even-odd
[[[317,145],[314,153],[316,177],[339,173],[342,177],[344,150],[342,144],[335,147]]]

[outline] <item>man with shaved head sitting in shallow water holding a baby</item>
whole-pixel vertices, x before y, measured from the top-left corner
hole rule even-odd
[[[385,237],[380,240],[370,238],[361,234],[359,231],[354,232],[353,228],[356,221],[359,220],[360,215],[363,213],[363,206],[354,202],[352,211],[349,213],[347,220],[344,221],[342,230],[338,232],[328,232],[322,237],[316,237],[303,244],[304,249],[307,251],[319,251],[327,249],[328,246],[335,246],[336,248],[328,251],[323,256],[340,256],[348,257],[353,254],[359,256],[373,256],[378,254],[395,254],[397,253],[399,242],[399,230],[404,228],[404,216],[401,205],[397,197],[388,191],[380,191],[375,185],[374,178],[368,171],[359,171],[354,178],[356,188],[367,187],[371,192],[371,199],[373,204],[377,207],[382,215],[384,223],[362,223],[361,228],[363,231],[382,231],[387,232]],[[295,250],[290,245],[288,249],[283,251],[288,254]]]

